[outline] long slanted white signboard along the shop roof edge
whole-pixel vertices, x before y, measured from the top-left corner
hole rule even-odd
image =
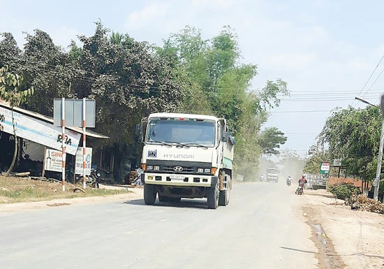
[[[3,125],[3,131],[13,134],[12,110],[0,107],[0,115],[4,115],[5,117],[5,121],[1,123],[1,125]],[[61,127],[53,126],[48,122],[34,119],[20,112],[13,112],[13,117],[15,118],[17,136],[61,151]],[[66,153],[75,155],[79,141],[80,133],[66,129],[66,137],[64,138]]]

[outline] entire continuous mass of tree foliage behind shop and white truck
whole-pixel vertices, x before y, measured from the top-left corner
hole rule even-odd
[[[116,170],[126,158],[139,156],[134,126],[152,112],[225,117],[237,140],[237,167],[256,166],[267,110],[279,106],[279,94],[288,94],[282,80],[249,90],[257,66],[240,63],[237,35],[230,27],[207,40],[200,29],[186,27],[171,34],[161,48],[111,32],[100,21],[92,36],[78,36],[80,45],[71,41],[68,51],[39,29],[27,34],[22,50],[12,34],[2,36],[0,67],[8,64],[10,71],[22,75],[22,90],[35,89],[24,108],[52,116],[55,98],[96,100],[95,131],[110,136],[102,144],[114,152]],[[278,147],[283,140],[276,139]],[[121,177],[119,172],[115,176]]]

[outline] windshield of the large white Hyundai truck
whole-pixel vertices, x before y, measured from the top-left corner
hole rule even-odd
[[[149,119],[146,142],[214,147],[215,123],[195,119]]]

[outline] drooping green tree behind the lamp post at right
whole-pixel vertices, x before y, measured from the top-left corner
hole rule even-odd
[[[373,180],[381,121],[381,112],[375,107],[335,110],[325,122],[319,142],[328,145],[330,159],[343,160],[348,174]]]

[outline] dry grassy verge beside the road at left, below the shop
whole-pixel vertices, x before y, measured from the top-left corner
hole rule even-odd
[[[116,189],[85,189],[85,193],[73,193],[73,189],[81,185],[66,184],[66,191],[61,191],[61,184],[40,180],[28,180],[18,177],[0,175],[0,203],[20,203],[49,201],[57,198],[75,198],[89,196],[110,196],[127,194],[126,190]]]

